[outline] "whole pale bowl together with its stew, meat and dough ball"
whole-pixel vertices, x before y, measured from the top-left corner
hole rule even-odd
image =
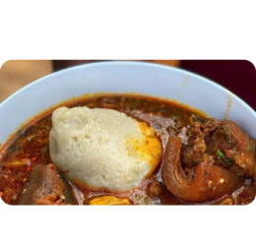
[[[89,64],[0,104],[8,206],[244,206],[256,198],[255,112],[179,69]]]

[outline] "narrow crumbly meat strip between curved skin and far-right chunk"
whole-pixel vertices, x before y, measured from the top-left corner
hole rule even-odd
[[[207,143],[219,125],[220,122],[214,118],[208,119],[204,124],[195,123],[188,145],[181,154],[181,161],[186,167],[193,167],[202,161]]]

